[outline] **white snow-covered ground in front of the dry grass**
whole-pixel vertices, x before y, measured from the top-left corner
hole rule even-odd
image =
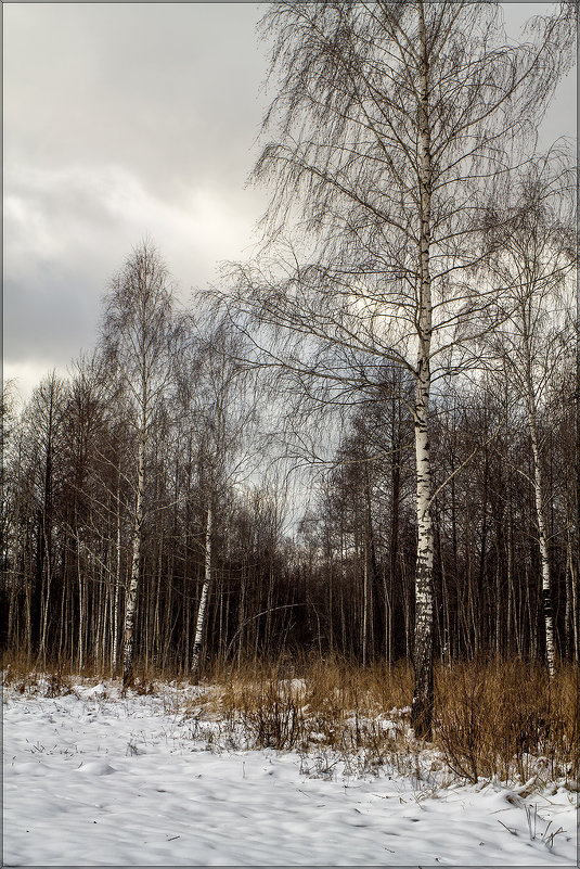
[[[576,865],[564,788],[521,798],[388,769],[321,775],[298,754],[219,740],[209,750],[182,697],[4,689],[4,865]]]

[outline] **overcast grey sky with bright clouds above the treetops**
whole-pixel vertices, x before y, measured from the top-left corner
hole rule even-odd
[[[545,3],[505,3],[511,28]],[[4,41],[4,379],[28,396],[94,345],[100,301],[145,235],[184,302],[247,255],[267,103],[255,3],[10,3]],[[576,133],[576,74],[546,144]]]

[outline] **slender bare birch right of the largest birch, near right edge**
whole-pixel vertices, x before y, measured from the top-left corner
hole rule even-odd
[[[514,179],[515,181],[515,179]],[[511,196],[490,210],[486,234],[488,265],[501,285],[503,324],[490,335],[514,397],[526,408],[540,550],[545,650],[550,676],[555,673],[552,571],[546,525],[549,495],[542,470],[540,426],[553,371],[566,354],[563,333],[571,312],[576,254],[570,159],[552,152],[531,164],[514,183]]]

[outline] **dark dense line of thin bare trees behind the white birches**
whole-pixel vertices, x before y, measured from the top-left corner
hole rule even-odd
[[[540,433],[556,647],[560,656],[577,659],[571,361],[553,371]],[[218,357],[210,363],[221,370]],[[400,373],[390,378],[402,388]],[[505,384],[488,386],[437,400],[435,488],[456,473],[434,509],[436,654],[541,660],[542,579],[525,408]],[[44,379],[21,414],[10,411],[7,395],[0,636],[4,649],[30,662],[40,656],[107,670],[120,660],[137,438],[118,396],[111,396],[96,359],[81,361],[70,382]],[[212,399],[206,419],[211,409]],[[369,663],[412,655],[414,455],[401,402],[382,398],[351,412],[334,467],[295,539],[283,534],[282,491],[208,485],[203,431],[170,411],[165,407],[151,429],[146,452],[137,660],[171,672],[191,666],[209,502],[202,661],[204,654],[223,662],[275,659],[296,650]]]

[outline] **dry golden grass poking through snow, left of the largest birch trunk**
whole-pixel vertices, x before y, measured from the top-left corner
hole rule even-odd
[[[288,665],[256,663],[240,669],[214,669],[203,697],[190,704],[196,720],[219,723],[217,744],[245,749],[295,750],[310,775],[330,775],[339,761],[352,774],[384,765],[399,772],[416,767],[405,721],[411,697],[407,665],[389,670],[361,668],[345,661],[304,660]]]

